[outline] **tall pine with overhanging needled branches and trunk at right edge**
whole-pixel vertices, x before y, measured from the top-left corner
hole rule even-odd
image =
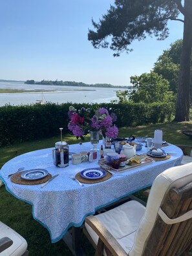
[[[178,18],[180,13],[184,20]],[[88,39],[94,48],[110,47],[114,56],[120,56],[132,50],[129,46],[136,39],[152,35],[165,39],[169,19],[184,23],[175,113],[175,121],[184,121],[189,120],[192,0],[115,0],[98,23],[92,20],[94,30],[89,30]]]

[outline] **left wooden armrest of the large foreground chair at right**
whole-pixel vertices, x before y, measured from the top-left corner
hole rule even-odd
[[[103,226],[103,224],[94,216],[89,216],[85,218],[85,222],[96,232],[100,240],[105,244],[105,246],[111,251],[113,256],[127,256],[125,250],[122,246],[114,239],[111,233]]]

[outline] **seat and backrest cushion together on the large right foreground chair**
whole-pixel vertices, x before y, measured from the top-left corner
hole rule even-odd
[[[129,256],[140,256],[166,192],[172,187],[182,187],[189,182],[192,182],[192,163],[171,167],[156,177],[146,208],[136,201],[130,201],[97,215],[96,218],[110,231]],[[89,225],[85,226],[97,244],[98,236]]]

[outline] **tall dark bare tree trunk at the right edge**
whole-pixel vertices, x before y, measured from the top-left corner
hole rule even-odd
[[[184,36],[180,59],[180,75],[176,99],[175,122],[189,121],[190,107],[190,63],[192,48],[192,3],[185,0],[184,4]]]

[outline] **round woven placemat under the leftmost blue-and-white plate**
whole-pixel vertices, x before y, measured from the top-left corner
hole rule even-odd
[[[10,178],[11,182],[14,182],[16,184],[22,184],[22,185],[37,185],[37,184],[42,184],[44,182],[47,182],[47,180],[49,180],[52,177],[52,175],[48,173],[47,176],[45,176],[44,178],[39,178],[38,180],[25,180],[24,178],[21,178],[21,173],[22,171],[12,175]]]

